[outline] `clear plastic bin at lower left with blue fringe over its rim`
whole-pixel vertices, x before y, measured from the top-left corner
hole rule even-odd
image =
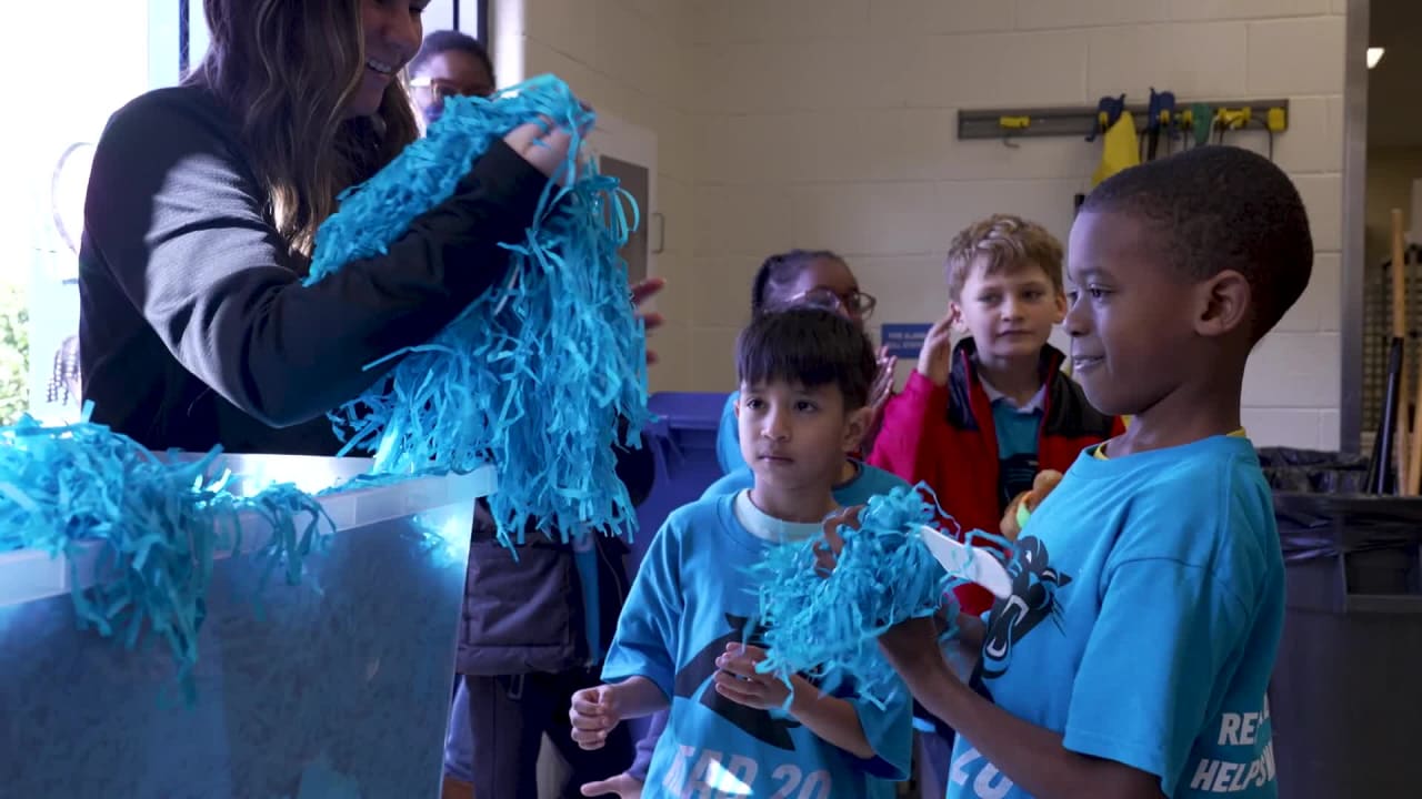
[[[316,492],[365,459],[229,456],[237,490]],[[195,705],[165,643],[75,626],[63,559],[0,554],[0,796],[437,796],[474,500],[492,469],[321,499],[336,533],[289,586],[219,556]],[[243,518],[243,550],[270,535]],[[92,557],[78,559],[92,581]]]

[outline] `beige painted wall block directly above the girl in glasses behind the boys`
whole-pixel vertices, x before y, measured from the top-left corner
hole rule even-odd
[[[846,254],[931,252],[936,225],[934,183],[835,183],[795,186],[791,205],[793,239],[801,246]]]

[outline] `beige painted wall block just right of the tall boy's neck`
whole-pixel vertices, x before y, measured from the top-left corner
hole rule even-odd
[[[1270,333],[1250,355],[1244,405],[1337,407],[1341,374],[1337,333]]]

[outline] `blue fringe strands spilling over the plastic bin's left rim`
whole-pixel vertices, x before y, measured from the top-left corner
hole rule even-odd
[[[255,496],[223,490],[219,455],[164,461],[107,427],[84,421],[41,427],[24,417],[0,428],[0,552],[36,549],[65,556],[80,630],[94,628],[132,650],[145,633],[168,644],[178,681],[195,699],[192,670],[213,557],[242,552],[239,515],[255,512],[273,530],[255,557],[263,583],[277,569],[296,584],[301,562],[334,529],[321,506],[292,485]],[[97,552],[90,552],[97,549]],[[80,587],[92,559],[95,584]]]

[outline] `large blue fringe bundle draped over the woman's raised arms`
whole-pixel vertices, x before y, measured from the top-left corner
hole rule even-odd
[[[640,446],[648,421],[646,331],[617,256],[637,209],[616,178],[577,162],[593,112],[552,75],[492,100],[448,100],[427,138],[343,196],[316,235],[307,279],[385,252],[454,193],[495,139],[539,117],[574,131],[560,175],[576,178],[566,188],[550,181],[523,239],[503,245],[508,283],[428,344],[370,364],[400,358],[331,414],[341,454],[374,452],[375,472],[468,472],[492,462],[499,488],[489,506],[505,545],[523,543],[529,520],[567,540],[586,529],[631,535],[637,519],[613,452]],[[623,436],[619,418],[629,422]]]

